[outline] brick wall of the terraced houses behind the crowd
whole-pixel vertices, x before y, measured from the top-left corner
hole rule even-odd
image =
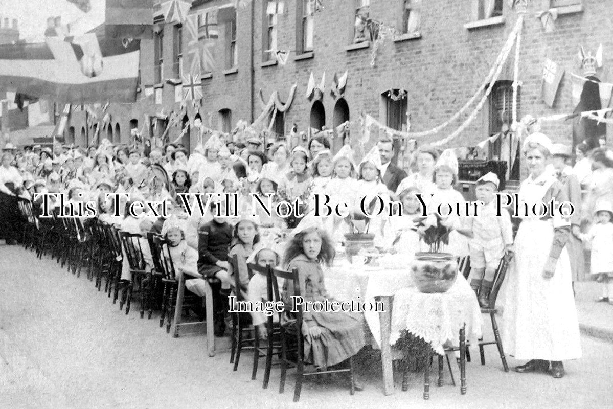
[[[360,112],[381,118],[381,93],[390,88],[402,88],[408,91],[408,110],[411,113],[412,131],[422,131],[442,123],[456,112],[470,98],[489,72],[493,61],[508,37],[517,15],[504,2],[504,23],[466,29],[473,13],[473,1],[430,0],[422,2],[421,37],[395,42],[387,39],[379,48],[376,66],[370,67],[372,46],[357,50],[346,50],[351,44],[354,23],[354,0],[324,1],[324,10],[315,14],[314,55],[313,58],[294,61],[295,52],[291,52],[285,66],[273,64],[262,66],[262,4],[263,0],[253,0],[245,8],[237,10],[237,72],[224,72],[225,31],[219,30],[217,66],[211,78],[203,80],[204,99],[200,115],[204,123],[215,128],[218,126],[217,113],[221,109],[232,110],[232,124],[238,120],[251,120],[261,113],[258,91],[262,89],[267,100],[273,91],[279,91],[281,100],[293,83],[297,91],[291,109],[285,116],[285,128],[289,131],[292,123],[297,123],[300,130],[309,124],[312,102],[305,97],[308,78],[313,71],[316,83],[326,72],[326,93],[322,99],[326,110],[326,125],[332,127],[332,113],[336,99],[330,96],[333,74],[339,75],[349,71],[345,99],[349,106],[350,118],[355,119]],[[199,12],[209,7],[224,4],[224,1],[208,1],[192,12]],[[295,50],[296,48],[296,0],[284,1],[284,13],[278,16],[278,48]],[[253,7],[253,17],[251,10]],[[548,0],[531,1],[525,15],[520,50],[521,108],[519,117],[527,113],[537,117],[555,113],[569,113],[571,106],[570,73],[582,74],[577,61],[580,45],[595,52],[598,44],[604,48],[604,70],[599,73],[601,80],[613,82],[610,74],[613,64],[613,37],[611,36],[611,19],[613,9],[606,2],[583,0],[582,11],[560,15],[555,21],[555,29],[546,33],[541,22],[535,18],[535,12],[549,8]],[[402,11],[401,0],[371,0],[370,17],[389,25],[399,24]],[[253,18],[253,30],[251,21]],[[253,37],[252,37],[253,32]],[[167,29],[164,39],[166,55],[172,55],[172,30]],[[184,36],[186,30],[184,30]],[[253,94],[251,93],[251,63],[249,61],[251,42],[253,40]],[[153,47],[143,42],[142,78],[143,84],[151,85],[153,76]],[[184,40],[184,50],[187,49]],[[169,54],[171,53],[171,54]],[[186,55],[186,51],[184,51]],[[164,71],[172,72],[170,58],[165,55]],[[512,80],[512,57],[505,67],[501,80]],[[185,57],[186,58],[186,57]],[[541,101],[541,74],[545,58],[550,58],[566,69],[565,78],[558,91],[554,109]],[[184,63],[186,64],[186,63]],[[174,87],[164,84],[163,106],[166,112],[178,110],[174,102]],[[466,128],[457,139],[457,145],[474,145],[487,137],[487,105],[476,120]],[[159,109],[159,108],[158,108]],[[122,111],[121,108],[118,111]],[[195,112],[188,111],[193,118]],[[131,115],[137,115],[131,113]],[[142,117],[142,115],[140,115]],[[121,121],[121,128],[127,126],[127,118],[122,112],[116,112]],[[140,121],[142,118],[136,117]],[[443,129],[440,134],[429,137],[440,139],[462,123],[463,115],[455,123]],[[571,142],[571,121],[547,123],[543,131],[559,142]],[[173,129],[172,136],[180,132]],[[127,132],[121,133],[124,139]],[[194,136],[192,136],[192,142]],[[426,141],[427,142],[427,141]]]

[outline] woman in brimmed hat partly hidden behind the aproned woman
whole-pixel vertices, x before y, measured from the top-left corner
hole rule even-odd
[[[585,277],[585,260],[583,243],[579,239],[579,235],[581,235],[581,185],[579,185],[579,180],[577,180],[573,168],[566,164],[566,161],[571,157],[571,151],[571,147],[563,143],[555,143],[552,147],[548,170],[552,171],[558,182],[562,183],[568,201],[575,208],[575,212],[570,218],[571,234],[568,236],[568,242],[566,242],[574,283],[574,281],[581,281]]]

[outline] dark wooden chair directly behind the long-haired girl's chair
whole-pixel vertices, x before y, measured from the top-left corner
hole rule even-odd
[[[268,300],[275,300],[274,290],[272,285],[273,272],[272,266],[262,267],[257,264],[249,263],[247,264],[247,268],[249,269],[249,276],[253,277],[254,273],[264,274],[266,276],[266,295],[267,299],[262,298],[262,303],[267,302]],[[264,380],[262,381],[262,388],[268,388],[268,381],[270,380],[270,370],[272,369],[272,357],[281,355],[281,341],[280,341],[280,327],[279,323],[275,322],[274,313],[267,315],[267,325],[266,325],[266,334],[267,334],[267,343],[265,348],[260,345],[260,335],[259,330],[256,327],[254,348],[253,348],[253,370],[251,371],[251,380],[254,380],[257,375],[257,365],[259,363],[259,359],[261,357],[266,357],[266,364],[264,367]],[[276,349],[276,352],[275,352]]]

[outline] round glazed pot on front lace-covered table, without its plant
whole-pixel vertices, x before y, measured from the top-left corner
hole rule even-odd
[[[415,253],[411,277],[421,292],[446,292],[455,283],[458,265],[453,254]]]

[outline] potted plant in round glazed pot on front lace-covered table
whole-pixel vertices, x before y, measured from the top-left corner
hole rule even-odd
[[[455,255],[444,252],[451,232],[445,224],[438,214],[418,223],[417,232],[428,251],[415,253],[411,275],[421,292],[446,292],[455,283],[458,266]]]

